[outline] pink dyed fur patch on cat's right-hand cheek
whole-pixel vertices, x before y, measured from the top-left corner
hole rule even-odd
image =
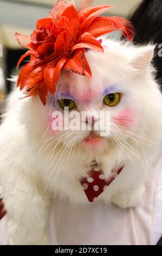
[[[133,110],[125,108],[118,112],[112,118],[113,122],[118,126],[130,127],[135,122],[135,113]]]

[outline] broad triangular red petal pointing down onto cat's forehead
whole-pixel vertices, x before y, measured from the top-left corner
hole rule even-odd
[[[89,78],[92,77],[90,66],[86,60],[84,50],[77,50],[74,53],[74,56],[67,60],[64,69],[75,72],[76,74],[87,76]]]

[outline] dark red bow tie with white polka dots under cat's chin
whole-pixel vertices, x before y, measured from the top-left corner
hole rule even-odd
[[[111,172],[110,178],[105,179],[102,169],[95,165],[92,166],[88,172],[88,177],[82,178],[80,183],[88,198],[89,202],[94,202],[97,197],[110,185],[110,183],[116,178],[122,171],[123,166],[119,169],[115,169]]]

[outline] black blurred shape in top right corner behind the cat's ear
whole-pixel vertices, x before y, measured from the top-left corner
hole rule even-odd
[[[156,79],[161,85],[162,92],[162,56],[158,56],[162,49],[162,1],[144,0],[133,16],[130,17],[135,28],[134,42],[136,44],[156,44],[154,67],[157,69]],[[161,46],[160,46],[161,44]],[[158,48],[159,46],[159,48]]]

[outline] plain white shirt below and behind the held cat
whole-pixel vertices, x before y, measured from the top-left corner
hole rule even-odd
[[[162,156],[139,206],[120,209],[95,202],[72,205],[55,200],[49,220],[51,245],[155,245],[162,235]],[[0,245],[8,243],[5,217],[0,221]]]

